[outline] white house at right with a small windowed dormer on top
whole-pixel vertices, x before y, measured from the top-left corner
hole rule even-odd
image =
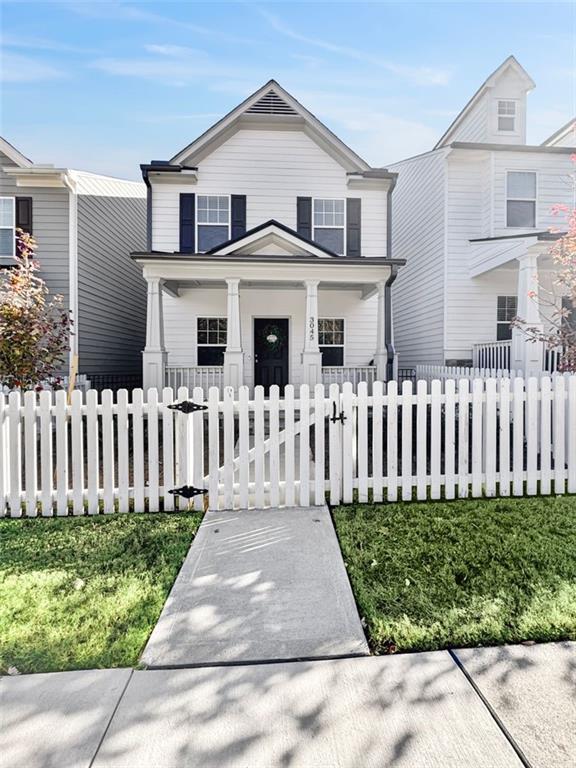
[[[390,166],[394,286],[401,366],[521,369],[554,364],[510,321],[544,321],[529,292],[551,283],[555,204],[573,205],[574,121],[540,146],[526,144],[534,83],[514,57],[486,80],[436,146]]]

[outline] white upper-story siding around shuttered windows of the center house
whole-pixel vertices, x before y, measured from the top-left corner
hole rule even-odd
[[[247,228],[277,219],[296,229],[298,196],[362,199],[362,253],[386,255],[386,191],[351,189],[346,171],[302,131],[240,130],[201,161],[196,184],[153,183],[152,247],[179,248],[179,195],[247,196]]]

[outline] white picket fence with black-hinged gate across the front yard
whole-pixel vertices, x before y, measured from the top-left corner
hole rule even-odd
[[[0,514],[576,493],[576,376],[0,395]]]

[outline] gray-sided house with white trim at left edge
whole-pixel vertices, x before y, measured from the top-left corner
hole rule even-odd
[[[38,243],[41,274],[74,321],[68,373],[133,386],[146,340],[146,282],[129,253],[146,245],[143,183],[38,165],[0,138],[0,266],[13,263],[16,227]]]

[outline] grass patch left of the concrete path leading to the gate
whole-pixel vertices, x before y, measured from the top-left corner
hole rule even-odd
[[[0,672],[137,665],[200,520],[1,520]]]

